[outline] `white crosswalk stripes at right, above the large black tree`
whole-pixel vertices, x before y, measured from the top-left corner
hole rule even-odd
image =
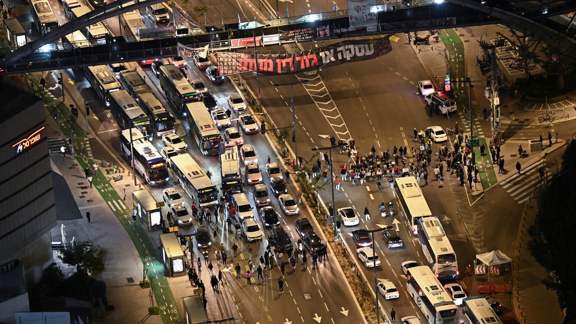
[[[540,174],[538,168],[542,165],[540,161],[528,165],[528,167],[522,168],[520,174],[514,174],[500,183],[503,189],[510,197],[514,198],[518,204],[524,204],[530,198],[530,194],[535,190],[536,184],[540,182]],[[546,169],[550,168],[554,163],[545,163],[544,167]],[[516,171],[516,165],[511,165],[513,171]]]

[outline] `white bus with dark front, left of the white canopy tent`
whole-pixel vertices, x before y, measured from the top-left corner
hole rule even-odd
[[[456,253],[438,217],[418,219],[418,242],[439,280],[458,278],[460,272],[458,272]]]

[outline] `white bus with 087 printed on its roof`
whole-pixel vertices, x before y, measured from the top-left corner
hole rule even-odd
[[[406,290],[429,324],[458,323],[458,306],[427,266],[408,269]]]

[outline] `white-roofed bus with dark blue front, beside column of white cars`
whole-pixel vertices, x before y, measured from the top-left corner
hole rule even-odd
[[[236,142],[222,142],[219,145],[220,175],[222,179],[222,195],[230,199],[234,194],[241,194],[244,188],[240,170],[240,157]]]

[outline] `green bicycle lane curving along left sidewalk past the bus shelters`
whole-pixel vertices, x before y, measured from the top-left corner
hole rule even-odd
[[[71,116],[70,111],[60,102],[53,101],[44,96],[44,107],[50,112],[52,118],[55,115],[55,106],[59,106],[60,114],[60,127],[62,129],[62,134],[66,137],[69,136],[70,131],[75,137],[75,141],[84,140],[86,133],[77,123],[68,122]],[[82,167],[82,169],[88,167],[92,168],[92,164],[96,162],[93,159],[86,157],[84,152],[77,152],[76,161]],[[122,201],[120,194],[116,192],[112,184],[108,181],[104,172],[98,172],[97,175],[92,176],[92,183],[94,187],[98,190],[100,196],[104,199],[108,206],[116,205],[118,201]],[[117,205],[116,205],[117,206]],[[142,260],[142,264],[149,266],[148,269],[148,280],[156,298],[156,302],[160,307],[160,315],[162,317],[162,322],[166,324],[170,323],[181,323],[179,314],[176,309],[176,300],[172,295],[168,280],[164,276],[164,267],[160,262],[160,258],[156,254],[156,248],[150,242],[147,233],[141,227],[140,223],[131,221],[130,207],[127,209],[113,209],[112,213],[118,218],[120,224],[124,230],[130,236],[134,247],[138,251],[138,255]],[[170,306],[173,307],[170,307]]]

